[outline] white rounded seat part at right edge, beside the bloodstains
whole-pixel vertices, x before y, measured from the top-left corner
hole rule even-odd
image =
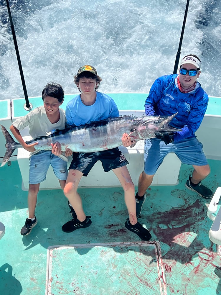
[[[219,204],[221,196],[221,187],[218,187],[213,195],[208,210],[207,216],[213,221],[209,230],[209,238],[216,245],[221,245],[221,206]]]

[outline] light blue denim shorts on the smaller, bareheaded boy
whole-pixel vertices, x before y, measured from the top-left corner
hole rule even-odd
[[[29,184],[44,181],[50,165],[58,179],[67,179],[67,162],[52,154],[50,150],[41,150],[29,160]]]

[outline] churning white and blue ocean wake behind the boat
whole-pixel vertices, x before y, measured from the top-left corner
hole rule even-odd
[[[103,79],[100,91],[148,92],[173,73],[186,0],[9,0],[29,97],[51,81],[77,93],[84,64]],[[0,100],[24,97],[6,1],[0,1]],[[181,58],[202,61],[198,81],[221,96],[221,1],[191,0]]]

